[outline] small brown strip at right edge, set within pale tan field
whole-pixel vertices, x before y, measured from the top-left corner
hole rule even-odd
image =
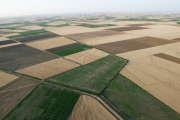
[[[154,56],[160,57],[162,59],[169,60],[171,62],[175,62],[175,63],[180,64],[180,58],[177,58],[177,57],[174,57],[174,56],[171,56],[171,55],[167,55],[167,54],[164,54],[164,53],[159,53],[159,54],[156,54]]]

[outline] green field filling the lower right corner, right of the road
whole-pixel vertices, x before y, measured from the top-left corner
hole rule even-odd
[[[123,75],[117,75],[102,95],[132,120],[180,120],[180,114]]]

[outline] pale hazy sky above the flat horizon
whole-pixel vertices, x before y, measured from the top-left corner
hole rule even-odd
[[[95,12],[180,12],[180,0],[0,0],[0,17]]]

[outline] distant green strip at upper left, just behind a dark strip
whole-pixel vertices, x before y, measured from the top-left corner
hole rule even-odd
[[[38,34],[43,34],[43,33],[50,33],[50,32],[46,31],[44,29],[30,30],[30,31],[26,31],[26,32],[20,32],[19,33],[20,35],[10,36],[9,38],[27,37],[27,36],[38,35]]]

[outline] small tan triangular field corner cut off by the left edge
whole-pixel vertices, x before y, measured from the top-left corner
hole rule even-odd
[[[10,83],[11,81],[17,79],[18,76],[11,75],[0,71],[0,87]]]

